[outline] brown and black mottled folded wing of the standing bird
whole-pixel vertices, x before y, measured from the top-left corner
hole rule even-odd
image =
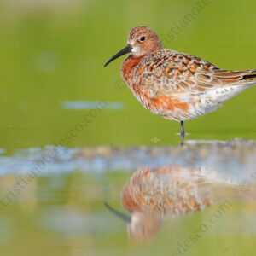
[[[211,87],[247,84],[256,77],[256,70],[222,70],[193,55],[160,49],[140,63],[143,67],[143,86],[158,90],[158,95],[184,91],[203,92]],[[149,82],[150,81],[150,82]],[[155,86],[157,84],[157,86]]]

